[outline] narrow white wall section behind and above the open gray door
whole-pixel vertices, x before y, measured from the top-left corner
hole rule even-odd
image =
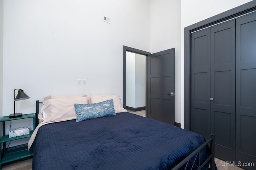
[[[180,0],[151,0],[150,49],[156,53],[175,48],[175,122],[181,122],[181,16]]]

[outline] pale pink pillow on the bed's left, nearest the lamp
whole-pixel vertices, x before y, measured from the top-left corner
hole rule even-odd
[[[49,99],[43,102],[44,110],[41,123],[76,119],[74,104],[88,104],[88,98]],[[40,120],[40,118],[39,118]]]

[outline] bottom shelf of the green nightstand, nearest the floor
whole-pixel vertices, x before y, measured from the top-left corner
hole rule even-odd
[[[30,156],[33,156],[33,152],[32,152],[32,149],[28,150],[28,148],[24,148],[22,150],[10,152],[10,153],[7,152],[7,154],[5,154],[2,157],[2,161],[1,161],[0,164],[5,164],[7,162],[12,162],[14,160],[27,158],[27,157],[30,157]]]

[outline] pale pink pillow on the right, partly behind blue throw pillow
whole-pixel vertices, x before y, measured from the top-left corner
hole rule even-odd
[[[93,103],[103,102],[103,101],[110,100],[110,99],[114,100],[114,108],[115,108],[115,112],[116,113],[127,111],[126,109],[124,109],[123,104],[121,102],[121,99],[117,95],[111,95],[111,96],[94,96],[94,95],[90,95],[90,100],[91,100],[92,104]]]

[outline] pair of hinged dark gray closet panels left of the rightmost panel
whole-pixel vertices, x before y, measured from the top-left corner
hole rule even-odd
[[[192,33],[191,130],[215,134],[215,156],[235,160],[235,20]]]

